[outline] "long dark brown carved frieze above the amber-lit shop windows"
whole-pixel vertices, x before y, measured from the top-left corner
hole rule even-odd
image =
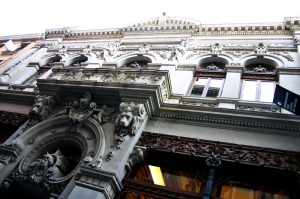
[[[212,154],[222,161],[239,162],[276,169],[300,171],[300,153],[224,142],[143,132],[137,146],[147,150],[171,152],[196,157]]]

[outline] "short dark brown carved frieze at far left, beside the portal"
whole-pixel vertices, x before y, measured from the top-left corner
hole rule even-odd
[[[20,126],[24,124],[28,118],[29,116],[25,114],[0,111],[0,123]]]

